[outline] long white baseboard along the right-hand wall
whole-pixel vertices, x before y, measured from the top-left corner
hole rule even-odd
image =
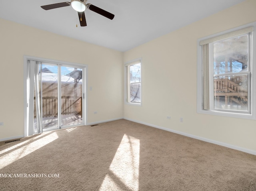
[[[208,142],[208,143],[212,143],[212,144],[216,144],[216,145],[224,146],[224,147],[231,148],[231,149],[234,149],[234,150],[238,150],[238,151],[242,151],[242,152],[245,152],[245,153],[256,155],[256,151],[254,151],[254,150],[249,150],[249,149],[246,149],[246,148],[226,144],[226,143],[223,143],[223,142],[219,142],[219,141],[215,141],[215,140],[211,140],[211,139],[207,139],[207,138],[187,134],[187,133],[176,131],[176,130],[171,130],[171,129],[168,129],[168,128],[164,128],[164,127],[144,123],[144,122],[141,122],[141,121],[132,120],[132,119],[129,119],[129,118],[124,118],[124,119],[129,120],[129,121],[133,121],[133,122],[136,122],[136,123],[144,124],[144,125],[147,125],[147,126],[150,126],[150,127],[166,130],[166,131],[169,131],[169,132],[172,132],[172,133],[180,134],[180,135],[183,135],[183,136],[187,136],[187,137],[190,137],[190,138],[198,139],[198,140],[201,140],[201,141],[204,141],[204,142]]]

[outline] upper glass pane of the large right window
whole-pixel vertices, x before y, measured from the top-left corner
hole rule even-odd
[[[248,71],[248,34],[213,44],[214,75]]]

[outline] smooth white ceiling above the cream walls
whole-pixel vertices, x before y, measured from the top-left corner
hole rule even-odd
[[[0,0],[0,18],[127,51],[243,1],[88,0],[86,3],[102,8],[115,17],[109,20],[86,9],[87,26],[80,27],[78,14],[71,6],[47,11],[40,7],[65,2],[63,0]]]

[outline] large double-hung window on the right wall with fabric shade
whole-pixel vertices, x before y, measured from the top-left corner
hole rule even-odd
[[[198,112],[255,118],[255,23],[198,40]]]

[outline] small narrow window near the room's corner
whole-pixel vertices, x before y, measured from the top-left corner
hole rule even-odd
[[[125,65],[125,102],[127,104],[141,105],[141,59],[130,61]]]

